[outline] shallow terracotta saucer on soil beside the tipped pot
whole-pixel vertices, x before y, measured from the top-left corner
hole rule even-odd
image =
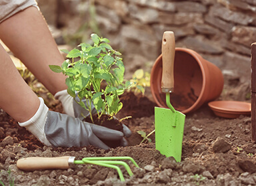
[[[238,101],[214,101],[208,106],[216,116],[223,118],[238,118],[240,115],[249,116],[251,114],[251,104]]]

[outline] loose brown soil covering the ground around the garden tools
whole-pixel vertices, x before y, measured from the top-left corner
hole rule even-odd
[[[241,99],[241,92],[225,88],[219,99]],[[32,134],[19,127],[5,112],[0,112],[0,180],[15,185],[256,185],[256,144],[251,141],[251,118],[219,118],[207,104],[187,114],[183,136],[181,162],[161,155],[152,142],[141,143],[141,130],[149,134],[154,130],[154,106],[147,96],[121,98],[123,109],[117,118],[123,120],[131,131],[129,146],[109,150],[97,147],[53,148],[41,144]],[[244,93],[243,93],[244,94]],[[150,95],[149,95],[150,96]],[[248,100],[245,100],[248,101]],[[59,110],[53,104],[52,110]],[[151,114],[150,114],[151,113]],[[141,115],[139,115],[141,114]],[[139,167],[131,167],[134,175],[129,177],[121,168],[125,182],[121,182],[115,169],[97,165],[77,165],[67,170],[44,170],[26,172],[17,169],[17,159],[22,157],[59,157],[71,155],[83,157],[130,156]],[[10,170],[10,171],[9,171]]]

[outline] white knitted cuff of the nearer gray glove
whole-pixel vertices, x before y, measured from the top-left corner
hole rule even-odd
[[[40,106],[35,115],[26,122],[19,123],[19,126],[25,127],[31,132],[39,141],[47,146],[51,146],[51,143],[45,136],[45,122],[47,120],[47,113],[49,108],[45,105],[43,98],[39,98]]]

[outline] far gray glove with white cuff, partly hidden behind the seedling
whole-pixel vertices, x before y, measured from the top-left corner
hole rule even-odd
[[[64,112],[69,116],[79,118],[80,120],[83,120],[83,116],[85,117],[89,116],[89,111],[85,110],[79,104],[77,104],[77,102],[80,101],[78,96],[75,97],[75,100],[77,100],[77,102],[75,102],[74,98],[67,93],[67,90],[62,90],[57,92],[55,94],[55,98],[61,101]],[[86,99],[84,98],[82,101],[85,103],[85,106],[87,106]],[[81,115],[81,113],[83,114],[83,116]],[[97,110],[93,106],[93,114],[96,114],[96,113],[97,113]],[[123,134],[125,135],[126,138],[129,138],[131,136],[131,130],[129,130],[129,128],[124,124],[123,124]],[[125,138],[123,138],[122,145],[124,146],[128,145]]]

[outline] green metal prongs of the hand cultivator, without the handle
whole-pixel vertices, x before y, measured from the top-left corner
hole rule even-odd
[[[127,165],[127,163],[125,163],[124,161],[116,161],[116,160],[121,160],[121,159],[130,160],[135,165],[135,167],[139,167],[137,165],[137,163],[134,161],[134,159],[129,157],[129,156],[123,156],[123,157],[85,157],[82,160],[75,160],[74,163],[75,164],[84,164],[84,163],[93,164],[93,165],[100,165],[100,166],[103,166],[103,167],[109,167],[109,168],[116,169],[121,181],[125,181],[121,169],[116,165],[123,165],[125,167],[125,169],[127,170],[127,173],[130,176],[133,175],[133,173],[132,173],[131,168],[129,167],[129,165]],[[113,160],[115,160],[115,161],[113,161]]]

